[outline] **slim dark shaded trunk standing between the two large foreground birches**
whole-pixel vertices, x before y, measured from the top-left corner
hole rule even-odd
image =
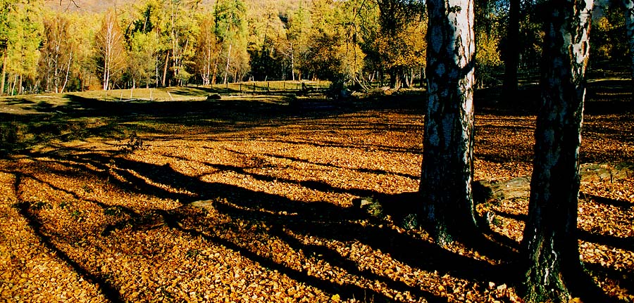
[[[515,100],[518,93],[517,70],[519,65],[519,11],[520,0],[509,1],[509,24],[506,26],[506,52],[504,53],[504,83],[502,101]]]

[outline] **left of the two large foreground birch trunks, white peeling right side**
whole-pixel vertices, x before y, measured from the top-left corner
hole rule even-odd
[[[423,138],[423,219],[437,243],[475,230],[473,0],[427,1],[428,106]]]

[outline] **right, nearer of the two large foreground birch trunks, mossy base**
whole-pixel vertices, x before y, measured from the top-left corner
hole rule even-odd
[[[523,236],[526,302],[568,302],[581,276],[576,238],[579,150],[592,0],[551,1],[542,63],[542,107]]]

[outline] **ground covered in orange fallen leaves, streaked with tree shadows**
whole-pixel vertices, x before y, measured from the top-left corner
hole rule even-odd
[[[628,87],[590,83],[582,162],[634,162]],[[476,180],[530,175],[537,96],[478,91]],[[526,197],[478,205],[488,242],[399,226],[423,98],[1,98],[0,302],[519,302]],[[634,176],[581,191],[585,271],[634,302]]]

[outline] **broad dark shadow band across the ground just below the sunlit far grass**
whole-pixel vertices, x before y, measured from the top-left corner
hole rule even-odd
[[[132,131],[147,131],[175,138],[178,134],[174,134],[173,125],[206,127],[207,134],[220,134],[261,127],[263,124],[282,127],[295,123],[298,119],[334,117],[395,106],[401,106],[404,108],[402,110],[421,112],[420,103],[398,102],[397,106],[391,98],[387,97],[367,102],[337,101],[337,106],[330,110],[298,108],[289,105],[287,101],[281,99],[271,101],[271,98],[266,97],[253,100],[232,98],[230,101],[221,102],[205,100],[124,102],[86,98],[75,94],[68,94],[64,98],[68,101],[61,105],[45,102],[33,105],[32,115],[0,113],[1,120],[15,124],[15,136],[20,141],[8,146],[9,149],[3,150],[3,153],[12,155],[22,152],[28,146],[49,144],[52,141],[72,141],[92,137],[120,139]],[[24,102],[9,101],[13,105]],[[329,102],[332,103],[332,101]],[[4,128],[4,124],[0,124],[0,129]],[[332,125],[332,128],[336,127],[339,126]],[[416,152],[416,150],[413,151]]]

